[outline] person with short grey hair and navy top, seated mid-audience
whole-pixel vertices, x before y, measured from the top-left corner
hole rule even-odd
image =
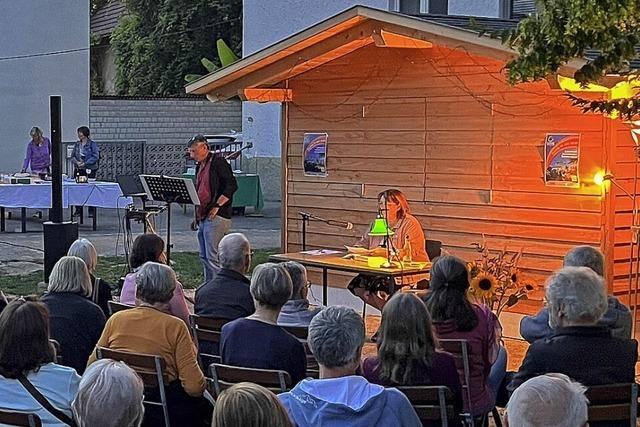
[[[289,372],[294,384],[305,377],[304,346],[277,325],[280,309],[291,296],[291,278],[281,264],[257,266],[251,276],[251,295],[256,312],[222,327],[222,363]]]

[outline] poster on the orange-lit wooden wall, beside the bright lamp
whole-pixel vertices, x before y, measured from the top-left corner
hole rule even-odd
[[[544,182],[549,186],[579,187],[580,134],[548,133],[544,142]]]

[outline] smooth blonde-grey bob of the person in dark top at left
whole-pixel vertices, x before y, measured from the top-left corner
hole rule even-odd
[[[47,292],[71,292],[88,297],[93,285],[87,265],[77,256],[63,256],[51,269]]]

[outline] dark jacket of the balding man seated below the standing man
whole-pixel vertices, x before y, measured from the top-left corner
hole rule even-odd
[[[249,279],[237,271],[220,269],[196,289],[194,311],[198,316],[235,320],[256,311],[249,292]]]

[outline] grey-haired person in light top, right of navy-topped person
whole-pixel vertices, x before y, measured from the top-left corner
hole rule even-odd
[[[293,283],[293,292],[289,301],[282,306],[278,325],[308,327],[313,316],[318,314],[322,307],[310,307],[307,293],[309,292],[309,281],[307,280],[307,269],[302,264],[295,261],[288,261],[282,264],[287,269]]]

